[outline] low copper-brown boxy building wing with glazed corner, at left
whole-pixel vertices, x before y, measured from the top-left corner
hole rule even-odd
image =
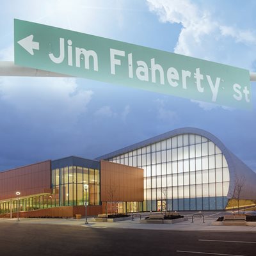
[[[142,211],[143,170],[71,156],[0,172],[2,217],[84,216],[86,202],[88,215]]]

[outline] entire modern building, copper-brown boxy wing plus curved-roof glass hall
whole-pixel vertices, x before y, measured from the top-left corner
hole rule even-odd
[[[183,128],[95,160],[72,156],[0,172],[0,216],[84,215],[86,202],[88,215],[223,210],[237,207],[237,198],[250,207],[255,185],[256,173],[218,138]]]

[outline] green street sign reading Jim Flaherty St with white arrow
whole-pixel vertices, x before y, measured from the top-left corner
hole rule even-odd
[[[15,65],[252,107],[250,73],[242,68],[17,19],[14,41]]]

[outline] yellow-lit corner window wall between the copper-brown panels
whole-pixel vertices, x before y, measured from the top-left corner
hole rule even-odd
[[[88,184],[88,205],[100,204],[99,170],[81,166],[66,166],[52,170],[54,206],[84,205],[84,184]]]

